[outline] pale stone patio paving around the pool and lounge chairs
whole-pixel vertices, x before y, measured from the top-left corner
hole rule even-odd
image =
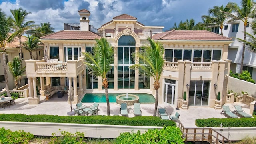
[[[47,114],[67,116],[71,111],[70,104],[67,102],[68,96],[65,94],[62,98],[53,96],[50,100],[45,100],[44,96],[40,97],[40,104],[29,105],[28,98],[18,98],[15,100],[15,105],[10,107],[0,108],[0,113],[4,114]],[[92,105],[93,103],[83,103],[84,105]],[[230,106],[230,110],[235,110],[234,105],[241,105],[246,113],[249,113],[249,106],[242,103],[225,104]],[[142,116],[152,116],[154,113],[155,104],[141,104]],[[106,103],[99,103],[98,115],[107,115]],[[72,108],[76,108],[76,104],[72,104]],[[133,106],[127,106],[133,108]],[[180,114],[179,120],[185,127],[196,127],[195,120],[198,118],[225,118],[225,114],[220,114],[221,110],[215,110],[209,107],[189,107],[188,110],[176,110],[169,104],[158,104],[158,108],[166,108],[168,116],[178,112]],[[158,113],[157,113],[158,114]],[[110,103],[110,115],[120,115],[120,105]],[[121,116],[121,115],[120,115]],[[129,117],[134,117],[134,114],[129,114]]]

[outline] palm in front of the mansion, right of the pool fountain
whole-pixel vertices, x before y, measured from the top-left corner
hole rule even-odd
[[[160,88],[160,77],[163,72],[164,66],[164,47],[161,42],[154,42],[150,38],[147,39],[150,46],[142,47],[142,49],[136,54],[133,53],[132,57],[139,58],[139,64],[130,66],[132,69],[139,69],[140,74],[145,74],[146,77],[154,78],[154,89],[156,90],[156,102],[154,115],[156,116],[156,110],[158,107],[158,89]]]

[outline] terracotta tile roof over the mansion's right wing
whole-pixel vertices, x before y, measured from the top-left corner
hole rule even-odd
[[[207,30],[171,30],[155,34],[153,40],[232,40]]]

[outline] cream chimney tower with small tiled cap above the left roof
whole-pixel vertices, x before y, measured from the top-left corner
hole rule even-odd
[[[80,30],[89,31],[89,16],[91,13],[89,12],[89,10],[82,9],[78,10],[78,14],[80,15]]]

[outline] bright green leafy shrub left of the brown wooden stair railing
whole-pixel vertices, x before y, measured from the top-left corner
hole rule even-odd
[[[116,138],[116,144],[184,144],[182,132],[174,126],[167,126],[161,130],[148,130],[144,134],[137,133],[121,133]]]

